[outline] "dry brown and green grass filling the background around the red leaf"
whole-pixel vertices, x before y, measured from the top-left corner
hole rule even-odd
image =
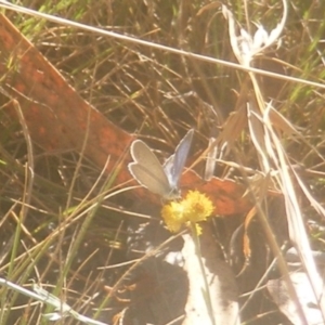
[[[16,3],[20,4],[20,1]],[[50,1],[24,1],[26,8],[43,13],[236,63],[229,26],[218,6],[204,1],[180,3],[61,1],[53,5]],[[230,1],[227,4],[232,5],[236,20],[246,26],[245,1]],[[256,63],[257,66],[298,80],[322,83],[324,10],[323,3],[308,5],[306,1],[290,1],[280,48],[272,48]],[[247,12],[249,22],[273,28],[281,18],[282,5],[278,1],[249,1]],[[239,109],[242,101],[247,100],[245,95],[261,90],[265,102],[271,98],[274,107],[299,130],[300,138],[277,129],[278,143],[284,146],[287,161],[297,168],[295,170],[298,170],[311,195],[323,205],[324,95],[321,87],[260,77],[258,82],[262,82],[264,88],[259,83],[261,88],[253,89],[247,73],[226,65],[185,57],[12,11],[5,11],[5,14],[84,100],[121,129],[130,133],[140,131],[152,147],[160,151],[171,153],[176,139],[181,139],[191,127],[197,130],[193,152],[206,148],[211,135],[218,136],[226,129],[230,114]],[[253,29],[253,25],[250,27]],[[30,280],[34,280],[74,310],[109,324],[118,313],[125,314],[126,318],[138,317],[140,323],[143,322],[141,324],[167,324],[182,315],[186,285],[183,284],[181,289],[173,287],[172,276],[168,277],[168,268],[171,266],[164,261],[147,258],[150,261],[144,262],[147,247],[141,243],[159,247],[169,234],[155,221],[144,227],[151,217],[136,217],[130,198],[127,195],[120,198],[112,192],[110,179],[102,174],[92,161],[78,155],[80,153],[48,153],[37,145],[31,151],[26,131],[24,133],[21,125],[6,115],[6,104],[2,96],[2,277],[27,287],[31,287]],[[237,138],[232,139],[232,151],[224,160],[251,168],[256,174],[265,172],[259,160],[262,154],[252,141],[253,136],[261,141],[256,125],[252,123],[251,128],[245,125],[233,133],[237,133]],[[276,143],[272,144],[273,148]],[[29,166],[32,162],[32,173],[26,167],[27,162]],[[269,162],[277,172],[284,172],[283,166],[274,166],[270,158]],[[256,184],[240,169],[227,164],[220,164],[216,174],[239,178],[250,188]],[[278,188],[285,183],[276,178],[272,182],[269,187]],[[313,222],[318,230],[313,229],[317,235],[311,244],[323,250],[324,216],[311,208],[301,186],[294,185],[304,222]],[[286,191],[287,187],[283,186],[282,193],[287,194]],[[257,199],[257,203],[260,202]],[[259,214],[268,217],[266,224],[277,244],[288,240],[285,200],[265,195],[257,206],[260,206]],[[153,211],[143,212],[158,217]],[[245,216],[218,218],[216,236],[238,274],[240,294],[244,295],[255,290],[266,271],[272,260],[272,253],[268,260],[266,252],[270,253],[272,243],[266,239],[265,232],[270,235],[270,230],[269,233],[265,231],[264,221],[255,218],[244,231],[249,235],[251,250],[250,257],[244,256],[243,234],[239,235],[243,218]],[[140,231],[140,225],[150,229],[150,234]],[[231,256],[229,250],[235,256]],[[130,265],[142,259],[141,268],[128,272]],[[153,274],[158,272],[165,274],[162,284],[155,283],[153,278]],[[185,277],[184,274],[181,276]],[[117,287],[116,284],[120,285]],[[177,288],[177,292],[169,291],[170,286]],[[172,300],[176,297],[179,303]],[[270,304],[263,295],[253,291],[250,302],[245,297],[240,300],[245,306],[242,322],[275,324],[275,316],[282,317],[277,307]],[[162,312],[153,311],[157,306],[154,302],[164,306]],[[40,315],[51,312],[51,308],[32,306],[27,298],[5,288],[1,288],[0,303],[1,324],[50,323]],[[161,315],[164,312],[166,317]],[[147,318],[141,320],[141,314]],[[76,324],[77,321],[65,318],[57,322]]]

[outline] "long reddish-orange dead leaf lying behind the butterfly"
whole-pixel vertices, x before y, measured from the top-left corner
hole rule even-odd
[[[84,146],[83,154],[100,169],[108,160],[107,173],[119,166],[115,184],[125,186],[130,182],[132,178],[127,164],[131,160],[129,146],[134,138],[81,99],[3,15],[0,15],[0,39],[2,88],[20,103],[32,141],[49,153],[81,152]],[[8,112],[16,117],[13,108]],[[183,174],[181,183],[188,190],[206,193],[213,200],[218,214],[240,213],[251,206],[242,197],[243,186],[232,180],[213,178],[204,183],[190,170]],[[129,184],[135,185],[135,181]],[[159,197],[143,187],[132,194],[145,202],[161,204]]]

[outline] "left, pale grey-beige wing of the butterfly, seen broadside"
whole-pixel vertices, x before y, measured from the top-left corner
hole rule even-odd
[[[129,171],[142,186],[165,197],[170,193],[169,180],[152,150],[141,140],[131,144],[134,162],[129,164]]]

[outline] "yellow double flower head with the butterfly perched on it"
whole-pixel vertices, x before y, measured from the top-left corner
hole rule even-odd
[[[161,216],[169,231],[179,232],[183,224],[204,221],[213,212],[211,200],[198,191],[188,191],[181,202],[171,202],[162,207]]]

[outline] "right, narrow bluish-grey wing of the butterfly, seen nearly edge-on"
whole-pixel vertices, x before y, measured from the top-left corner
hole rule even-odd
[[[182,170],[191,148],[193,134],[194,130],[191,129],[177,146],[174,154],[171,155],[164,165],[171,188],[179,187]]]

